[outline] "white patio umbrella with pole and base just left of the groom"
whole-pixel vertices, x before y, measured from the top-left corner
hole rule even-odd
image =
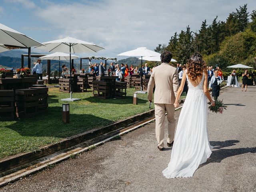
[[[140,56],[141,59],[143,56],[160,56],[161,54],[152,50],[147,49],[146,47],[139,47],[137,49],[131,50],[131,51],[126,51],[123,53],[118,54],[117,56]],[[142,82],[142,60],[141,60],[141,83],[140,83],[140,92],[138,93],[146,93],[144,91],[142,91],[142,86],[143,86],[143,82]]]

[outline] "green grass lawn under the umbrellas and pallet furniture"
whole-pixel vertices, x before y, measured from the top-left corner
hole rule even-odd
[[[0,122],[0,158],[21,152],[30,152],[50,143],[56,143],[90,130],[106,126],[149,110],[147,94],[138,94],[138,105],[133,105],[134,88],[127,89],[126,99],[102,100],[92,92],[74,93],[81,101],[70,102],[70,123],[62,122],[62,102],[69,93],[49,88],[48,113],[16,121]],[[182,96],[184,98],[184,96]],[[152,105],[154,108],[154,105]]]

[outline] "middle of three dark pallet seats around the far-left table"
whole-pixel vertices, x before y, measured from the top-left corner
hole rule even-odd
[[[16,89],[15,107],[18,118],[34,117],[38,114],[38,90]]]

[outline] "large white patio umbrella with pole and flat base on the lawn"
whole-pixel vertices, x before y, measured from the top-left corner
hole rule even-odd
[[[35,48],[46,50],[49,52],[66,52],[70,55],[70,79],[71,76],[71,52],[72,53],[83,53],[83,52],[98,52],[104,48],[92,44],[86,41],[78,40],[71,37],[66,37],[63,39],[48,41],[43,43],[44,46],[36,46]],[[77,101],[81,100],[78,98],[72,98],[71,84],[70,84],[70,98],[62,99],[62,101]]]

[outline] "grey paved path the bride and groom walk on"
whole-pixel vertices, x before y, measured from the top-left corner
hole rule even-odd
[[[215,148],[192,178],[162,176],[171,148],[157,150],[155,123],[150,123],[0,192],[256,191],[256,86],[247,92],[225,88],[220,98],[228,111],[208,113],[209,139]]]

